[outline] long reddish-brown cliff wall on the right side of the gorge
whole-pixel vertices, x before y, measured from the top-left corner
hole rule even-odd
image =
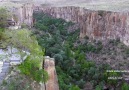
[[[90,39],[117,39],[129,45],[129,13],[93,11],[80,7],[43,7],[42,11],[56,18],[78,23],[80,37]]]

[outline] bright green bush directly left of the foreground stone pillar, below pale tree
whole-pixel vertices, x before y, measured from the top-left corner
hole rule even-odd
[[[39,69],[39,64],[36,64],[38,61],[31,60],[30,57],[27,57],[27,59],[19,65],[19,69],[21,72],[29,77],[31,77],[33,80],[37,82],[46,82],[48,80],[48,74],[43,69]]]

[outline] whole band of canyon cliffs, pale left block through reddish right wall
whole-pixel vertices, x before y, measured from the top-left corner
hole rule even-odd
[[[82,0],[82,2],[84,1]],[[4,5],[2,6],[8,6],[8,3],[3,3]],[[120,39],[125,45],[129,45],[128,12],[89,10],[85,7],[65,5],[41,7],[35,6],[32,3],[19,4],[18,2],[13,3],[8,7],[13,13],[13,16],[17,16],[18,18],[18,20],[15,20],[17,26],[26,24],[29,27],[32,27],[34,23],[33,11],[39,10],[48,13],[55,18],[62,18],[66,21],[72,21],[79,24],[80,38],[88,36],[91,40],[95,39],[101,41]]]

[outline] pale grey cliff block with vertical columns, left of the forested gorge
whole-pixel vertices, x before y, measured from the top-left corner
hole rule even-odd
[[[28,26],[33,25],[33,5],[22,4],[20,7],[13,7],[12,13],[18,18],[17,25],[25,23]]]

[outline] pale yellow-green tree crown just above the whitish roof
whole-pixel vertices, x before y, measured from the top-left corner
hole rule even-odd
[[[41,47],[38,45],[36,37],[32,36],[31,31],[27,29],[12,31],[6,30],[5,35],[7,38],[10,38],[7,42],[9,45],[29,51],[34,57],[44,55]]]

